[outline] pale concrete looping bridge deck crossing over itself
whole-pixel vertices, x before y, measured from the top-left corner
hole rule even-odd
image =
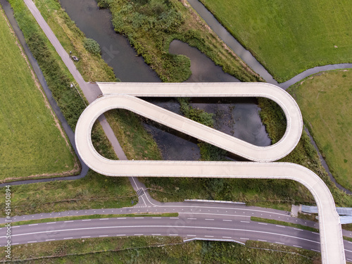
[[[301,137],[303,122],[296,101],[279,87],[265,83],[98,83],[104,96],[96,99],[77,122],[75,140],[84,163],[108,176],[223,177],[289,179],[305,185],[318,206],[323,263],[346,263],[339,215],[325,183],[307,168],[293,163],[271,163],[290,153]],[[134,96],[265,97],[282,107],[287,118],[284,137],[261,147],[213,130]],[[189,134],[253,162],[111,161],[96,152],[92,126],[102,113],[124,108],[175,130]]]

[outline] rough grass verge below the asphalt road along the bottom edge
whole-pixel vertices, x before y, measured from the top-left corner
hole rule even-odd
[[[260,249],[253,249],[260,248]],[[23,250],[25,249],[25,250]],[[271,249],[271,250],[263,250]],[[13,260],[30,263],[279,263],[308,264],[320,254],[289,246],[247,241],[191,241],[180,237],[106,237],[50,241],[11,247]],[[1,260],[5,260],[1,256]]]

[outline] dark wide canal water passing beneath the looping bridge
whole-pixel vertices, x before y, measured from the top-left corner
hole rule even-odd
[[[110,11],[100,9],[94,0],[60,0],[60,3],[77,27],[99,43],[103,59],[122,82],[161,82],[143,58],[137,55],[126,37],[115,33]],[[188,44],[175,40],[170,44],[169,51],[190,58],[192,75],[186,82],[239,82]],[[147,101],[180,114],[176,99],[149,98]],[[214,113],[215,128],[222,132],[258,146],[270,145],[258,115],[260,108],[256,99],[191,99],[191,106]],[[164,160],[194,161],[200,158],[196,139],[153,122],[145,123],[144,126],[156,140]]]

